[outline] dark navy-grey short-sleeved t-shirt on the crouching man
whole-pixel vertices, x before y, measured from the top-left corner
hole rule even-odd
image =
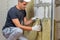
[[[12,19],[18,18],[20,23],[23,22],[24,17],[26,16],[25,10],[18,10],[16,6],[12,7],[7,14],[6,23],[3,27],[3,29],[7,27],[16,27],[15,24],[12,22]],[[2,29],[2,30],[3,30]]]

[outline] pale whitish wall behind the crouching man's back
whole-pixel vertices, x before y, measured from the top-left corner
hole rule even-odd
[[[6,20],[7,11],[17,4],[17,0],[0,0],[0,40],[6,40],[2,35],[2,27]]]

